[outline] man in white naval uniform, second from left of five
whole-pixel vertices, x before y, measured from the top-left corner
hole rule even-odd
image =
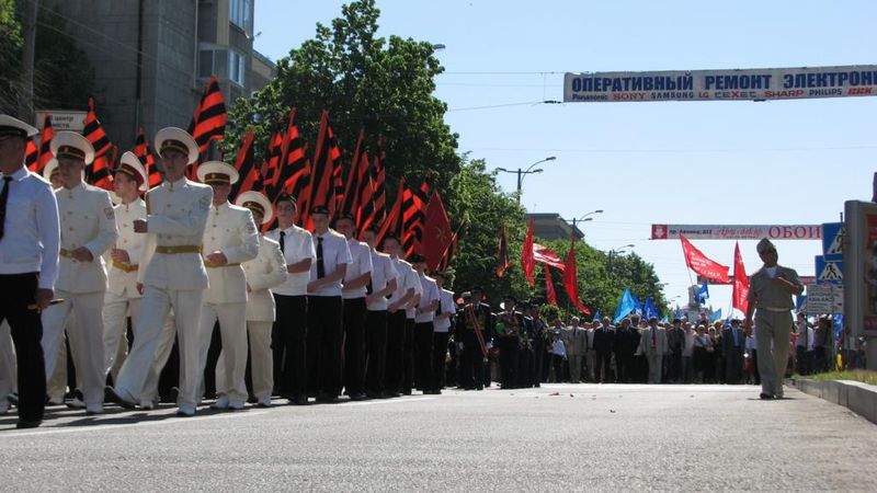
[[[134,221],[146,219],[146,202],[140,193],[147,190],[147,175],[134,152],[122,154],[113,186],[122,203],[114,207],[118,238],[105,259],[110,267],[103,300],[103,367],[115,377],[128,354],[127,317],[130,314],[132,323],[137,322],[143,297],[137,289],[137,262],[146,238],[134,232]]]

